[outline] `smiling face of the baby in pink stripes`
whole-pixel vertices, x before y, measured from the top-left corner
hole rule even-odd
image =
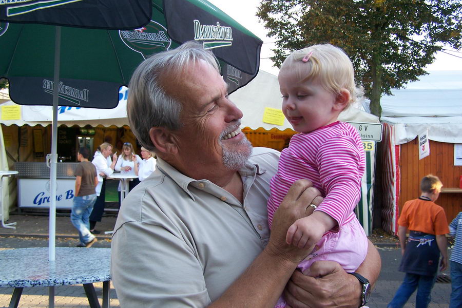
[[[280,71],[279,87],[282,94],[282,112],[295,131],[311,132],[337,121],[338,97],[317,80],[301,82],[296,74]]]

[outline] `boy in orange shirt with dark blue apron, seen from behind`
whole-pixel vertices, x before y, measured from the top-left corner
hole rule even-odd
[[[442,183],[433,175],[422,178],[419,198],[407,201],[398,219],[398,236],[402,260],[400,272],[406,276],[396,291],[388,308],[401,308],[417,288],[416,308],[426,308],[431,300],[431,291],[438,271],[448,266],[446,234],[449,233],[445,210],[435,204]],[[406,243],[406,233],[409,239]]]

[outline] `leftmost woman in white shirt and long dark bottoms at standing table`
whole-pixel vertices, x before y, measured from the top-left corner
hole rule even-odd
[[[105,177],[110,176],[114,172],[115,162],[117,162],[117,152],[112,156],[112,145],[107,142],[103,142],[99,147],[98,151],[94,152],[93,160],[91,161],[97,169],[98,185],[96,187],[97,201],[93,206],[93,210],[90,215],[90,232],[98,234],[99,231],[94,229],[94,226],[98,221],[101,221],[104,213],[104,199],[106,196],[106,180]]]

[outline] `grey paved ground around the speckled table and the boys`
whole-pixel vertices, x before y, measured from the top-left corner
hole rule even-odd
[[[98,235],[98,242],[93,247],[110,248],[110,236],[104,235],[104,231],[111,230],[115,224],[115,215],[103,217],[103,221],[97,224],[97,229],[102,231]],[[17,228],[6,229],[0,227],[0,249],[23,248],[23,247],[47,247],[48,246],[48,216],[37,215],[11,215],[8,222],[17,222]],[[401,259],[400,250],[397,248],[396,239],[393,237],[374,236],[371,240],[377,244],[382,258],[382,270],[376,283],[369,307],[386,308],[387,303],[395,294],[402,281],[403,273],[397,271]],[[73,247],[78,244],[78,236],[70,223],[69,216],[62,214],[56,217],[56,247]],[[89,248],[91,249],[91,248]],[[21,262],[21,260],[18,260]],[[0,265],[1,266],[1,265]],[[443,274],[449,275],[449,269]],[[95,283],[95,289],[100,297],[102,283]],[[0,288],[0,307],[7,307],[11,298],[12,288]],[[432,291],[430,308],[449,307],[451,293],[450,283],[436,283]],[[48,306],[48,288],[30,287],[25,288],[21,297],[20,307],[41,308]],[[84,289],[81,285],[58,286],[55,288],[55,307],[81,308],[88,307]],[[117,294],[111,286],[110,306],[120,307]],[[414,296],[410,298],[405,308],[414,308]]]

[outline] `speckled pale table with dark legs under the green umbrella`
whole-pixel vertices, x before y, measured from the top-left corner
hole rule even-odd
[[[93,282],[103,282],[103,308],[109,307],[110,248],[56,247],[48,261],[48,247],[0,251],[0,287],[14,287],[9,308],[16,308],[24,287],[49,286],[49,307],[54,307],[54,286],[83,284],[91,308],[100,308]]]

